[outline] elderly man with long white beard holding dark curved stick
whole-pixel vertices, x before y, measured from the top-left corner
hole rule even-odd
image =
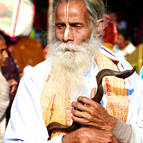
[[[105,77],[101,104],[90,99],[100,70],[132,68],[97,40],[103,11],[101,0],[55,0],[55,39],[48,59],[21,79],[3,143],[141,142],[143,83],[136,73],[126,80]],[[82,128],[54,130],[48,140],[50,123],[70,126],[72,121]]]

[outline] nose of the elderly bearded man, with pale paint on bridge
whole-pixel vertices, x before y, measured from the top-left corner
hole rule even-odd
[[[73,42],[74,40],[74,37],[73,37],[73,32],[72,32],[72,29],[70,29],[70,26],[67,25],[66,26],[66,29],[64,31],[64,38],[63,38],[63,41],[65,43],[71,43]]]

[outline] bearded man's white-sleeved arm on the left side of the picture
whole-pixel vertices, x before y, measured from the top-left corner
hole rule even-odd
[[[20,81],[3,143],[47,143],[48,133],[42,118],[40,91],[31,77]]]

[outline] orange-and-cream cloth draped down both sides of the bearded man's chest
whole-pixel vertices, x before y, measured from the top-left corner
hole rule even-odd
[[[105,68],[119,71],[117,65],[102,54],[97,54],[95,61],[98,65],[99,71]],[[58,81],[58,73],[50,73],[45,79],[45,84],[40,97],[40,104],[43,113],[45,125],[52,122],[70,126],[71,125],[71,102],[70,102],[70,89],[68,81],[63,83]],[[56,79],[56,80],[55,80]],[[49,93],[48,84],[51,82],[59,82],[59,89],[65,90],[65,94],[58,96],[60,91],[53,91]],[[62,84],[64,84],[64,86]],[[127,88],[123,79],[108,76],[103,79],[103,85],[106,94],[106,109],[108,113],[115,118],[126,121],[129,107],[129,99],[127,96]],[[63,89],[65,88],[65,89]],[[55,87],[52,88],[53,90]],[[52,137],[65,132],[55,131]]]

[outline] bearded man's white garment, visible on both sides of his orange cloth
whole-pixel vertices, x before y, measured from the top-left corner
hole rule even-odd
[[[111,59],[119,61],[118,67],[121,71],[132,67],[124,60],[119,59],[105,47],[101,47],[101,52]],[[47,141],[48,133],[40,106],[40,95],[43,88],[44,77],[50,72],[52,58],[38,64],[26,72],[21,79],[17,95],[14,99],[11,118],[2,143],[50,143]],[[96,74],[98,68],[95,63],[85,74],[88,82],[88,89],[84,96],[89,97],[91,89],[96,85]],[[134,73],[125,80],[130,99],[127,124],[132,125],[133,135],[130,143],[143,143],[143,81]],[[105,96],[105,95],[104,95]],[[104,97],[103,106],[106,104]],[[136,139],[136,137],[138,137]],[[61,136],[59,136],[61,139]],[[142,142],[141,142],[142,138]]]

